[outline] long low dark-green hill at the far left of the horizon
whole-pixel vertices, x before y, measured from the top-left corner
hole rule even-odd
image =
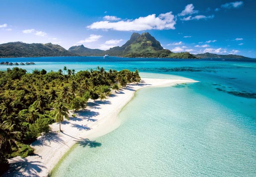
[[[50,57],[50,56],[77,56],[55,44],[26,44],[23,42],[9,42],[0,44],[0,58],[10,57]]]

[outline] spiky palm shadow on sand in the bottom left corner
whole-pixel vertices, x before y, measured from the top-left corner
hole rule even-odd
[[[37,174],[42,171],[42,168],[46,168],[44,165],[40,165],[40,163],[40,161],[28,162],[26,158],[11,160],[10,168],[3,177],[39,177]]]

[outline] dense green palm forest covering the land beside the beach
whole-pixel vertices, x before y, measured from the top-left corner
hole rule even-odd
[[[68,110],[80,110],[88,99],[106,99],[113,90],[140,81],[139,71],[96,70],[75,72],[67,67],[47,73],[14,67],[0,71],[0,166],[7,158],[33,153],[29,144],[50,131],[49,124],[69,119]],[[73,116],[73,115],[72,115]]]

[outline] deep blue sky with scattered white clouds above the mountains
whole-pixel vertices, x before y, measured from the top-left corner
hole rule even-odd
[[[256,0],[0,0],[0,44],[107,50],[149,32],[172,52],[256,58]]]

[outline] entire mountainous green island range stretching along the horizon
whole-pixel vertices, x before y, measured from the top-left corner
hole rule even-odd
[[[247,58],[241,55],[218,55],[213,53],[190,54],[189,52],[174,53],[164,49],[148,32],[141,35],[133,33],[130,40],[122,46],[115,46],[108,50],[89,49],[72,46],[68,50],[55,44],[26,44],[23,42],[10,42],[0,44],[0,58],[15,57],[50,57],[50,56],[120,56],[129,58]]]

